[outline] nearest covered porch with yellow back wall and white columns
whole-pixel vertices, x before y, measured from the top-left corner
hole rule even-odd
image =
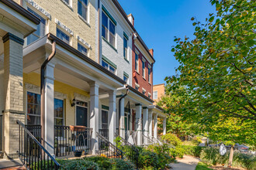
[[[44,70],[41,93],[40,67],[53,52],[54,43],[56,54]],[[108,107],[108,138],[113,141],[116,89],[124,87],[125,82],[51,34],[23,51],[26,126],[40,125],[39,136],[51,155],[66,156],[77,150],[98,154],[102,106]],[[73,126],[81,129],[75,131]]]

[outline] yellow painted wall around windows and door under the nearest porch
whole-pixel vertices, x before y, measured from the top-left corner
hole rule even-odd
[[[29,83],[40,87],[40,74],[37,73],[23,73],[23,84]],[[89,93],[78,89],[76,87],[71,87],[65,83],[61,83],[60,81],[54,80],[54,91],[59,93],[64,93],[67,95],[67,99],[64,100],[64,110],[65,110],[65,125],[74,125],[75,124],[75,113],[74,108],[71,107],[71,100],[74,99],[74,93],[79,93],[84,95],[85,97],[89,97]],[[24,91],[25,92],[25,91]],[[24,101],[26,104],[26,100]]]

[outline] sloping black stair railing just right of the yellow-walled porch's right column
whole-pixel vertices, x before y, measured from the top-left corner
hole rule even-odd
[[[113,145],[108,139],[104,138],[99,132],[96,132],[99,138],[99,152],[98,154],[106,158],[123,158],[123,151]]]

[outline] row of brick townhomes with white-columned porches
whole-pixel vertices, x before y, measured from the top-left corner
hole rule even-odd
[[[1,158],[149,145],[157,118],[165,134],[154,50],[117,0],[1,0],[0,19]]]

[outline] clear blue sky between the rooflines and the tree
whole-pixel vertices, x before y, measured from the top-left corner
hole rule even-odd
[[[164,83],[175,74],[178,62],[171,53],[174,36],[193,37],[192,16],[204,22],[215,12],[209,0],[119,0],[127,14],[132,13],[135,28],[148,48],[154,49],[154,84]]]

